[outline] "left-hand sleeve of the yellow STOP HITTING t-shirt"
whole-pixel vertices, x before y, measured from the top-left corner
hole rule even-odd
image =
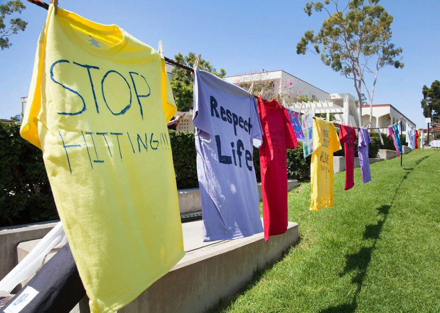
[[[40,149],[41,142],[38,135],[38,121],[42,106],[41,82],[42,79],[44,79],[45,28],[46,27],[44,26],[38,40],[31,84],[27,94],[27,103],[24,109],[22,126],[20,128],[20,134],[22,137]]]

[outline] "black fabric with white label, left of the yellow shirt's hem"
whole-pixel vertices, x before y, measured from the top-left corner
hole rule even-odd
[[[61,248],[3,308],[21,296],[26,287],[39,293],[20,313],[69,313],[86,295],[69,244]]]

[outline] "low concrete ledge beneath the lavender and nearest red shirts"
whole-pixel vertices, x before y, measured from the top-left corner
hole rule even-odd
[[[264,242],[263,233],[187,252],[165,276],[118,313],[202,313],[239,291],[298,240],[298,224]]]

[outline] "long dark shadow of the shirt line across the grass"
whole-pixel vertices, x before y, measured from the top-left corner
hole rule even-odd
[[[403,181],[408,178],[408,175],[416,168],[420,162],[426,159],[428,156],[423,156],[416,161],[416,165],[410,168],[403,168],[406,173],[403,175],[402,179],[398,187],[396,188],[396,192],[394,193],[394,197],[391,200],[390,205],[382,205],[376,208],[377,214],[380,216],[380,220],[377,221],[376,224],[365,225],[364,233],[362,234],[363,240],[373,240],[373,244],[369,247],[361,247],[359,251],[347,254],[345,256],[345,268],[339,273],[339,277],[342,277],[352,271],[356,272],[356,275],[352,278],[352,284],[356,285],[356,291],[354,292],[354,296],[350,303],[344,303],[336,306],[329,307],[327,309],[321,310],[320,313],[353,313],[357,309],[357,297],[362,290],[362,284],[364,282],[365,276],[367,275],[367,269],[371,261],[371,256],[373,254],[374,249],[376,248],[377,241],[380,239],[380,233],[382,231],[383,224],[388,217],[390,212],[390,208],[392,207],[397,192],[400,189]]]

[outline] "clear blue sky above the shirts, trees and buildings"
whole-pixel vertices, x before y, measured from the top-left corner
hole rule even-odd
[[[0,3],[5,3],[1,0]],[[0,51],[0,118],[20,113],[27,95],[34,53],[46,11],[24,1],[24,32],[11,36],[12,47]],[[48,2],[48,0],[47,0]],[[297,55],[296,44],[307,29],[319,29],[324,13],[308,17],[306,0],[291,1],[61,1],[61,7],[95,22],[117,24],[165,56],[201,53],[227,76],[282,69],[330,93],[350,92],[352,81],[322,64],[319,56]],[[440,79],[440,11],[438,0],[382,0],[394,16],[393,43],[403,48],[403,69],[379,72],[374,103],[391,103],[418,127],[426,127],[420,108],[423,85]],[[431,15],[430,15],[431,13]],[[15,16],[14,16],[15,17]]]

